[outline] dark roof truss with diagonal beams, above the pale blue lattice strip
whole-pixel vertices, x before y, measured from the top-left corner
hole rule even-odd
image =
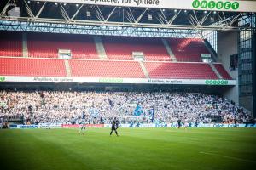
[[[235,26],[236,21],[247,14],[230,13],[230,12],[215,12],[212,11],[196,11],[196,10],[173,10],[160,8],[131,8],[131,7],[116,7],[116,6],[99,6],[90,4],[80,4],[77,8],[73,8],[72,3],[27,3],[27,0],[18,1],[17,6],[22,12],[21,16],[27,17],[12,17],[6,16],[9,5],[0,11],[0,20],[27,21],[37,23],[52,23],[52,24],[75,24],[78,26],[121,26],[121,27],[137,27],[137,28],[160,28],[160,29],[190,29],[195,30],[235,30],[253,29],[255,26],[241,27]],[[47,4],[46,4],[47,3]],[[21,4],[21,5],[20,5]],[[32,8],[38,5],[37,8]],[[71,8],[68,9],[68,5]],[[53,15],[51,16],[48,8],[51,8]],[[81,11],[87,11],[90,8],[91,16],[83,17]],[[23,9],[23,10],[21,10]],[[38,10],[39,9],[39,10]],[[55,9],[59,9],[58,11]],[[150,10],[150,11],[148,11]],[[57,12],[55,12],[57,11]],[[60,12],[60,13],[59,13]],[[152,15],[152,19],[148,19],[148,15]],[[70,14],[72,13],[72,15]],[[85,19],[84,19],[85,18]],[[40,25],[39,25],[40,26]],[[7,27],[5,27],[7,28]]]

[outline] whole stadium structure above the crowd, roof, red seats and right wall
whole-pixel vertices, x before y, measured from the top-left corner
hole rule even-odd
[[[1,1],[0,87],[214,93],[255,117],[255,12],[231,0]]]

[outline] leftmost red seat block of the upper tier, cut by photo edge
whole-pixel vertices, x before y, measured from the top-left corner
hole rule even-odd
[[[0,31],[0,56],[22,56],[22,34],[15,31]]]

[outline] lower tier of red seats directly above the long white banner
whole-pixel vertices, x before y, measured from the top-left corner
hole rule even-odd
[[[69,59],[71,77],[146,78],[137,61]],[[149,78],[218,79],[207,63],[148,61]],[[232,78],[221,64],[214,64],[223,79]],[[0,75],[67,77],[64,59],[0,58]]]

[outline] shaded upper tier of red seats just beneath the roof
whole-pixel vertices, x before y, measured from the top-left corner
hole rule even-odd
[[[58,49],[70,49],[72,59],[99,59],[96,43],[91,36],[27,33],[26,40],[19,32],[1,31],[0,56],[22,56],[22,41],[28,57],[58,58]],[[200,38],[166,39],[177,61],[201,62],[201,54],[210,54]],[[143,52],[146,61],[171,61],[161,38],[102,37],[108,59],[133,60],[132,52]]]

